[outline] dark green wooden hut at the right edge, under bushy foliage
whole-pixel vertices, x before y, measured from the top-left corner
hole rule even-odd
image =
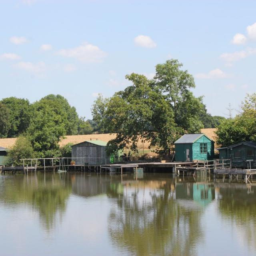
[[[225,148],[218,148],[220,159],[231,159],[233,167],[248,167],[248,160],[256,166],[256,143],[252,141],[240,142]]]

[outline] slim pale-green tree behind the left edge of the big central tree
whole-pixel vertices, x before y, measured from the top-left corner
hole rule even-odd
[[[104,98],[102,94],[98,94],[94,104],[92,105],[91,111],[94,121],[94,131],[97,133],[108,133],[110,132],[107,127],[104,126],[104,116],[107,110],[108,98]]]

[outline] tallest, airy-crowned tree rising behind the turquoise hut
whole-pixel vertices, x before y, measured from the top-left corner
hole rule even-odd
[[[154,79],[174,112],[176,124],[188,133],[200,132],[204,127],[200,120],[204,104],[202,97],[196,98],[190,91],[195,88],[194,78],[182,66],[174,59],[157,64]]]

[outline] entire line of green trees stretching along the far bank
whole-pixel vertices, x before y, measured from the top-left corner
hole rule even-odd
[[[108,142],[109,154],[128,143],[136,152],[143,140],[169,156],[175,140],[202,128],[217,127],[217,142],[223,146],[255,140],[255,94],[246,98],[238,116],[226,119],[207,112],[203,96],[192,93],[196,86],[193,76],[178,60],[157,64],[153,79],[136,73],[126,79],[130,86],[124,90],[110,98],[98,95],[91,108],[92,120],[79,117],[61,95],[50,94],[32,104],[15,97],[1,100],[0,137],[19,137],[8,153],[10,159],[63,156],[70,152],[70,145],[60,148],[58,143],[63,136],[74,134],[115,133],[116,138]]]

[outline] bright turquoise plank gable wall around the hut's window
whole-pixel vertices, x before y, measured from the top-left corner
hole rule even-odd
[[[200,143],[207,144],[207,153],[202,154],[200,151]],[[192,146],[193,160],[212,160],[214,159],[214,142],[206,136],[202,136]]]

